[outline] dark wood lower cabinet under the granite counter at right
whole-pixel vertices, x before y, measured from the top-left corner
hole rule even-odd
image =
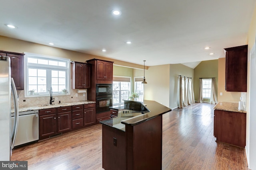
[[[216,141],[244,148],[246,145],[246,113],[214,110]]]

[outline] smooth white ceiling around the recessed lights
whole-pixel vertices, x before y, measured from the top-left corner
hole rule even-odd
[[[2,36],[146,66],[194,67],[247,44],[255,0],[4,0],[1,6]],[[113,9],[122,14],[113,16]]]

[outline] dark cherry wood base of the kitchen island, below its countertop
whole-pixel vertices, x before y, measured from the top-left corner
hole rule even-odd
[[[161,170],[162,115],[125,131],[102,124],[104,170]]]

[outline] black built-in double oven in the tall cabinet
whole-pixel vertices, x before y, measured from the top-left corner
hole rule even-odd
[[[112,84],[96,84],[96,113],[109,111],[112,100]]]

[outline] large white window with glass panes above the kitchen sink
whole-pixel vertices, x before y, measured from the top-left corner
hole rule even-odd
[[[24,63],[25,97],[48,96],[51,87],[54,95],[70,94],[70,59],[26,53]]]

